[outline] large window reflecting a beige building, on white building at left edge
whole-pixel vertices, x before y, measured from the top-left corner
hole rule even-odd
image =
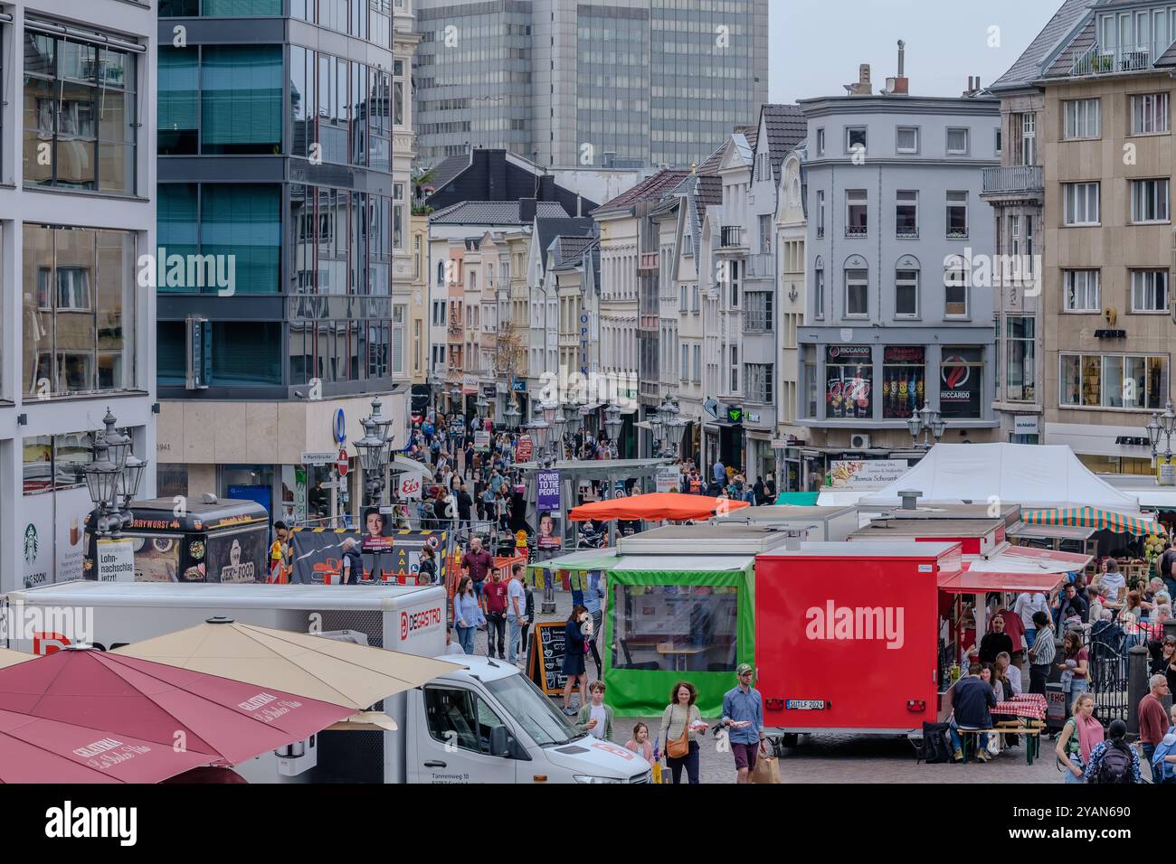
[[[25,225],[21,280],[25,394],[135,386],[133,233]]]

